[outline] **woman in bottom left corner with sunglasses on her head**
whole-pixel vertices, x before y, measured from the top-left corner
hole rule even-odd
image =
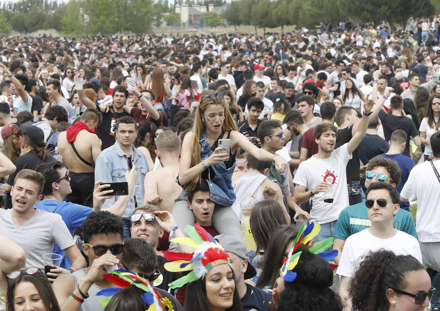
[[[53,289],[37,267],[8,274],[7,311],[61,311]]]

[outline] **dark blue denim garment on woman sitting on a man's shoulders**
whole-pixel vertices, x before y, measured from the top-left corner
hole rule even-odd
[[[199,143],[200,159],[205,160],[214,153],[211,150],[211,144],[206,140],[205,132],[201,133]],[[211,200],[222,206],[232,206],[235,202],[235,193],[231,181],[234,168],[235,162],[229,168],[226,168],[224,162],[209,167],[210,179],[207,182],[211,191]]]

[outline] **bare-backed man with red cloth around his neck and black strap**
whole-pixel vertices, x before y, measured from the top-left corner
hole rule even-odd
[[[81,120],[58,137],[58,150],[71,178],[72,193],[66,196],[67,202],[93,206],[95,161],[101,153],[101,140],[95,130],[101,122],[101,113],[87,108]]]

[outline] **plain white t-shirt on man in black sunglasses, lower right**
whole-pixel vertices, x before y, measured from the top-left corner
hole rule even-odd
[[[394,237],[379,239],[374,237],[368,228],[351,235],[345,240],[336,273],[349,278],[353,277],[365,257],[380,249],[392,251],[396,255],[411,255],[422,263],[420,246],[413,236],[396,230]]]

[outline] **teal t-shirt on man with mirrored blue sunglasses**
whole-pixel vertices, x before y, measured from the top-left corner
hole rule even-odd
[[[333,237],[346,240],[351,235],[371,227],[365,202],[347,206],[339,214]],[[416,224],[410,212],[399,209],[394,216],[394,228],[417,239]]]

